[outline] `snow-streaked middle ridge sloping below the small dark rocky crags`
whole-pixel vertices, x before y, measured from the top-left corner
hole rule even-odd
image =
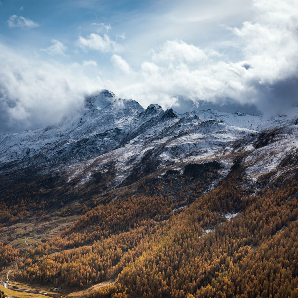
[[[219,120],[201,121],[197,116],[194,118],[198,124],[186,129],[183,127],[182,133],[179,126],[185,119],[168,118],[164,122],[157,122],[123,147],[93,159],[87,167],[85,163],[80,163],[64,170],[71,177],[70,181],[83,176],[80,183],[85,183],[92,178],[90,173],[104,171],[113,163],[114,180],[110,187],[115,187],[125,181],[135,168],[146,172],[149,163],[154,164],[154,172],[163,171],[168,166],[180,170],[182,164],[212,158],[218,150],[232,144],[234,140],[255,132],[230,127]],[[77,171],[78,168],[80,171]]]

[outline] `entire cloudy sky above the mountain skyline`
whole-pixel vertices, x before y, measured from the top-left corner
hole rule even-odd
[[[297,15],[294,0],[2,0],[0,117],[46,125],[102,88],[180,112],[280,112],[297,103]]]

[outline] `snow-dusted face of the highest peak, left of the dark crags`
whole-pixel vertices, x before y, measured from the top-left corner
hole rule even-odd
[[[111,150],[127,134],[144,109],[134,100],[122,100],[106,90],[86,99],[81,117],[57,125],[0,135],[0,162],[37,157],[67,162],[89,159]],[[105,105],[104,107],[102,107]]]

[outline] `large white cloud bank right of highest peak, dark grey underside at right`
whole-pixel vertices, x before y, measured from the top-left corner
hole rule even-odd
[[[254,104],[264,113],[297,103],[298,6],[294,0],[256,0],[255,18],[232,28],[230,47],[242,59],[183,41],[166,41],[152,50],[134,82],[115,84],[114,92],[143,105],[155,99],[164,107],[177,95],[194,103]],[[245,66],[245,67],[244,67]],[[295,85],[296,84],[296,85]]]

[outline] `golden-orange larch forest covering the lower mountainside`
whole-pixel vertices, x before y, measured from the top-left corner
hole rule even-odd
[[[203,182],[162,195],[164,187],[86,207],[28,249],[15,276],[78,289],[116,280],[90,298],[298,297],[296,181],[257,193],[235,177],[207,194]],[[0,253],[2,266],[19,254],[4,243]]]

